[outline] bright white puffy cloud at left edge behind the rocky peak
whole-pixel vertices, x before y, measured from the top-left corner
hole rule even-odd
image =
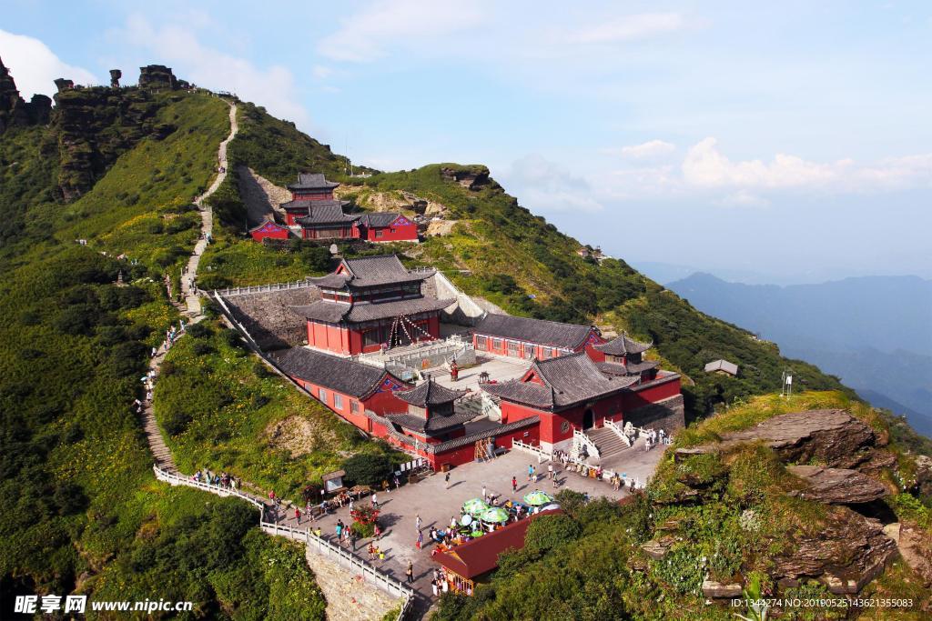
[[[75,84],[98,84],[94,74],[81,67],[62,62],[48,46],[38,39],[23,34],[0,30],[0,51],[3,62],[26,101],[35,94],[51,96],[56,88],[53,80],[65,77]]]

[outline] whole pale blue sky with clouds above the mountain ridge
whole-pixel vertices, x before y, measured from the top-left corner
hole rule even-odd
[[[7,0],[0,57],[27,96],[162,63],[380,169],[485,163],[636,265],[932,277],[932,5],[569,4]]]

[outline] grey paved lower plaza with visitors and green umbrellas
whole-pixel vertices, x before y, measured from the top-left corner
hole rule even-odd
[[[644,451],[643,445],[637,444],[629,450],[613,458],[613,463],[619,471],[625,471],[629,476],[644,481],[651,475],[654,467],[660,461],[663,449],[658,447],[650,452]],[[431,550],[427,539],[427,531],[431,526],[442,528],[449,524],[450,518],[459,518],[459,507],[470,498],[481,497],[483,485],[489,493],[499,493],[501,498],[520,501],[528,492],[540,489],[547,493],[556,493],[562,489],[570,489],[580,493],[589,493],[593,498],[606,496],[612,499],[621,499],[627,495],[624,491],[616,492],[608,482],[596,479],[584,479],[575,472],[563,471],[555,464],[559,487],[555,490],[550,481],[541,480],[537,483],[528,481],[528,465],[533,464],[535,469],[547,471],[549,462],[538,463],[537,457],[526,452],[513,450],[490,462],[470,463],[458,466],[450,471],[450,486],[445,486],[442,473],[433,474],[413,485],[404,485],[400,490],[390,493],[378,493],[381,513],[379,523],[384,528],[384,534],[378,547],[386,553],[386,559],[375,561],[375,564],[384,572],[404,580],[404,568],[410,560],[414,563],[415,589],[418,591],[417,609],[420,614],[432,605],[431,574],[438,565],[432,561]],[[512,493],[511,479],[518,479],[517,493]],[[363,504],[369,502],[363,499]],[[422,520],[422,529],[425,531],[424,549],[418,550],[415,546],[418,538],[416,529],[416,516]],[[326,517],[311,522],[302,518],[300,524],[295,524],[293,516],[290,520],[281,520],[282,524],[289,524],[306,528],[320,525],[324,537],[335,538],[336,520],[343,520],[349,524],[349,507],[338,509]],[[366,547],[369,540],[357,543],[357,555],[367,558]]]

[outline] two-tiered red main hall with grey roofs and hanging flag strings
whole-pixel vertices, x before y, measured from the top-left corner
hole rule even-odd
[[[308,321],[308,345],[354,356],[440,336],[440,311],[455,300],[424,297],[434,270],[408,270],[395,255],[344,259],[333,274],[309,278],[321,299],[291,306]]]

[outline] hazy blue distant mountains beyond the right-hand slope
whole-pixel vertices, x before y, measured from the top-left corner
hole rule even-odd
[[[876,406],[932,436],[932,280],[857,277],[817,285],[745,285],[696,273],[667,285],[839,375]]]

